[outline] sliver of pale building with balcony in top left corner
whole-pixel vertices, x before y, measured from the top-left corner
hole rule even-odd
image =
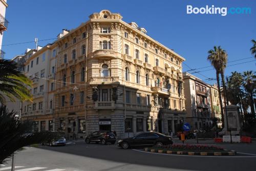
[[[9,23],[9,21],[5,18],[5,12],[7,7],[7,0],[0,0],[0,59],[4,59],[5,55],[5,52],[2,51],[2,41],[4,31],[7,30]]]

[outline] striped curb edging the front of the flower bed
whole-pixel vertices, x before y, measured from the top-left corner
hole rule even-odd
[[[151,153],[163,153],[163,154],[178,154],[178,155],[190,155],[190,156],[234,156],[237,154],[236,151],[231,152],[214,152],[214,153],[207,153],[207,152],[182,152],[182,151],[169,151],[169,150],[156,150],[156,149],[148,149],[144,148],[145,152]]]

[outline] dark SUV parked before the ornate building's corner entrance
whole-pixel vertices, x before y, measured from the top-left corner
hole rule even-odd
[[[101,142],[102,144],[106,144],[108,142],[114,144],[116,142],[116,136],[111,131],[96,131],[86,136],[86,143],[90,142]]]

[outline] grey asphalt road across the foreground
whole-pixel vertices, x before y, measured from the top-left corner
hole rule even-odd
[[[122,150],[116,145],[76,142],[66,146],[40,146],[18,152],[16,170],[255,170],[256,144],[225,144],[237,156],[179,156],[143,152],[142,149]],[[10,166],[10,162],[2,168]],[[23,166],[23,167],[21,167]],[[43,168],[44,167],[44,168]],[[0,170],[2,169],[0,167]],[[32,169],[30,169],[32,168]],[[8,170],[8,169],[6,169]]]

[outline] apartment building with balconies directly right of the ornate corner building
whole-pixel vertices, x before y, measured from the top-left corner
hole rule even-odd
[[[186,121],[194,130],[211,127],[210,85],[184,72]]]

